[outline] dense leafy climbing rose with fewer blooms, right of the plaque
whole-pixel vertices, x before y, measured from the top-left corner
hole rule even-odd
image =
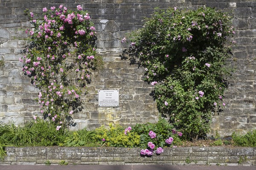
[[[227,13],[169,8],[156,10],[128,37],[131,47],[126,52],[131,63],[145,68],[158,111],[186,139],[207,133],[212,113],[226,105],[223,94],[232,71],[226,45],[233,34]]]

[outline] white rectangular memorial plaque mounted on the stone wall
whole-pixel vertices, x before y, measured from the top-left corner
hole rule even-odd
[[[99,90],[99,107],[119,107],[119,90]]]

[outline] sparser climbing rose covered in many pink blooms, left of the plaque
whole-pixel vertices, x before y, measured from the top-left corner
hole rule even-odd
[[[81,110],[81,95],[101,58],[96,57],[95,27],[80,5],[76,10],[60,5],[42,12],[44,18],[36,19],[25,11],[34,28],[26,30],[31,44],[20,62],[24,74],[40,89],[42,115],[60,130]]]

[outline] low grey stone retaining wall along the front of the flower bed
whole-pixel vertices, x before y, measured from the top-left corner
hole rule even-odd
[[[175,147],[161,155],[140,156],[140,148],[120,147],[6,147],[0,164],[169,164],[256,166],[256,147]],[[241,168],[242,169],[242,168]]]

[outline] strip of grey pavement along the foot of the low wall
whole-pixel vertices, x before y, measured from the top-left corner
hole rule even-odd
[[[256,170],[256,166],[206,165],[0,165],[0,170]]]

